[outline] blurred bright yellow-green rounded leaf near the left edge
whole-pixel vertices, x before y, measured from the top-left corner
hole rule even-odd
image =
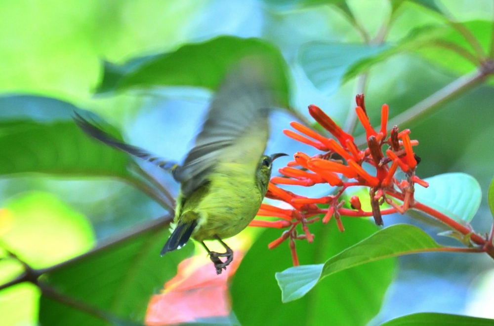
[[[33,268],[60,263],[94,245],[90,222],[50,193],[22,194],[4,207],[10,222],[1,241]]]

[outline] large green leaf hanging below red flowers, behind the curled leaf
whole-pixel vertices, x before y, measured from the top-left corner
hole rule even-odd
[[[334,221],[310,225],[315,234],[314,243],[296,242],[301,264],[324,262],[378,229],[367,220],[345,217],[342,220],[343,233]],[[378,313],[394,275],[394,259],[331,275],[299,301],[282,303],[274,274],[292,265],[288,243],[274,250],[267,248],[280,235],[278,229],[265,230],[235,274],[231,288],[233,309],[243,326],[365,325]],[[252,302],[259,304],[252,306]]]

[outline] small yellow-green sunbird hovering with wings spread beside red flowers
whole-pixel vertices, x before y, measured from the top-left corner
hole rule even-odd
[[[180,182],[172,233],[161,255],[180,249],[192,237],[204,246],[217,274],[233,261],[233,251],[222,239],[238,234],[255,217],[273,161],[287,155],[263,154],[269,137],[268,113],[280,107],[271,68],[262,57],[247,57],[233,65],[182,165],[124,144],[76,113],[75,121],[86,134],[170,171]],[[219,241],[226,252],[210,251],[205,240]]]

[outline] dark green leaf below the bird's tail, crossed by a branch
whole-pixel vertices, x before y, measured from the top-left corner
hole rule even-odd
[[[160,257],[169,236],[167,228],[163,221],[155,222],[132,237],[57,266],[43,281],[118,318],[142,323],[151,295],[175,276],[178,263],[194,247],[189,244]],[[105,325],[46,296],[41,297],[40,322],[50,326]]]

